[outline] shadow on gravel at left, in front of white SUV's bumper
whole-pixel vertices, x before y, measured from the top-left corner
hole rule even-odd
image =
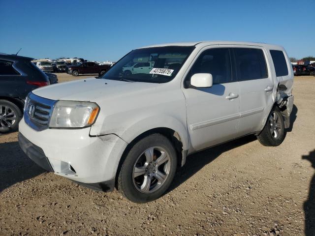
[[[26,156],[18,142],[0,144],[0,192],[44,172]]]

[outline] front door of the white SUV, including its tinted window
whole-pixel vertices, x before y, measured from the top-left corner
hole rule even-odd
[[[237,136],[240,89],[232,77],[231,50],[213,48],[201,52],[189,70],[185,87],[196,73],[210,73],[210,88],[183,89],[187,103],[187,126],[194,150],[208,148]]]

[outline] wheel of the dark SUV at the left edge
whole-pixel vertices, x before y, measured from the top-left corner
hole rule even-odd
[[[22,119],[22,112],[14,103],[0,100],[0,133],[16,131]]]

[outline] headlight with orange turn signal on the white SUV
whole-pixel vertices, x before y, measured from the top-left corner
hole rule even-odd
[[[94,124],[99,107],[93,102],[60,100],[50,118],[51,128],[83,128]]]

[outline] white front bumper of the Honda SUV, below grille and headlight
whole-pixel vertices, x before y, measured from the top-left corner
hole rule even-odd
[[[91,137],[90,128],[35,131],[24,118],[19,132],[20,146],[39,166],[47,167],[48,162],[50,171],[86,185],[114,186],[119,161],[127,146],[118,136]]]

